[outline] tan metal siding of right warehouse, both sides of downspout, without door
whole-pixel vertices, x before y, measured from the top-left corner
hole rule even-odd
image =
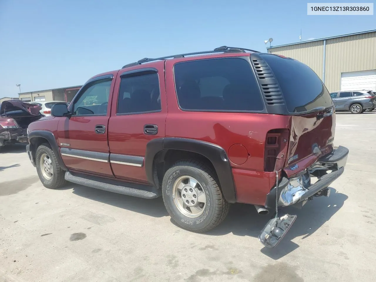
[[[323,79],[323,40],[268,49],[308,65]],[[341,73],[376,70],[376,32],[326,40],[325,85],[329,92],[340,90]]]

